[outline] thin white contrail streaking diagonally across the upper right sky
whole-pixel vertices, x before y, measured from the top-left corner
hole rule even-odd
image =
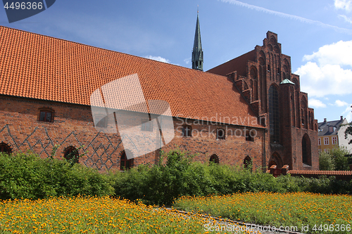
[[[289,18],[291,20],[298,20],[298,21],[305,22],[305,23],[310,23],[310,24],[313,24],[313,25],[319,25],[321,27],[329,27],[329,28],[332,28],[333,30],[335,30],[337,32],[344,32],[344,33],[347,33],[347,34],[352,34],[352,30],[348,30],[346,28],[337,27],[337,26],[334,26],[334,25],[328,25],[328,24],[325,24],[324,22],[320,22],[318,20],[310,20],[310,19],[303,18],[303,17],[297,16],[297,15],[290,15],[290,14],[282,13],[282,12],[279,12],[279,11],[272,11],[272,10],[269,10],[267,8],[263,8],[263,7],[260,7],[260,6],[254,6],[254,5],[251,5],[251,4],[246,4],[244,2],[237,1],[237,0],[221,0],[221,1],[225,2],[225,3],[234,4],[234,5],[237,5],[237,6],[246,7],[246,8],[249,8],[251,10],[260,11],[260,12],[263,12],[263,13],[268,13],[268,14],[271,14],[271,15],[277,15],[277,16],[282,17],[282,18]],[[344,0],[336,0],[336,1],[344,1]],[[336,7],[336,1],[335,1],[335,7]],[[352,0],[349,0],[349,1],[352,1]],[[339,7],[340,6],[343,7],[345,5],[338,3],[338,6]]]

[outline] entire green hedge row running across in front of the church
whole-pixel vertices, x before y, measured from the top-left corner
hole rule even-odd
[[[172,204],[182,195],[203,196],[244,192],[352,193],[351,181],[300,178],[251,171],[240,167],[193,162],[192,155],[174,150],[156,165],[101,174],[80,164],[32,153],[0,155],[0,199],[51,196],[103,196]]]

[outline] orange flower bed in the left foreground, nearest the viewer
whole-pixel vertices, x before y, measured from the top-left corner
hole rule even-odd
[[[0,202],[0,233],[204,233],[215,222],[111,197]]]

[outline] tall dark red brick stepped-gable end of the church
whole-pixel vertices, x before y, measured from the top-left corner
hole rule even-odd
[[[298,75],[291,73],[291,58],[282,54],[282,46],[277,42],[277,34],[273,32],[268,32],[263,46],[256,46],[254,51],[256,58],[239,56],[208,72],[228,74],[258,116],[268,113],[268,90],[275,85],[279,89],[280,142],[270,144],[269,135],[265,136],[266,167],[273,160],[279,168],[288,164],[289,169],[319,169],[318,131],[315,126],[318,121],[314,119],[314,110],[308,108],[307,93],[301,92]],[[234,65],[229,70],[229,64],[233,61],[245,63],[246,74],[239,74],[238,67]],[[294,85],[280,84],[284,79],[291,80]],[[268,124],[266,127],[270,131]],[[310,140],[310,167],[303,167],[302,162],[302,138],[305,134]]]

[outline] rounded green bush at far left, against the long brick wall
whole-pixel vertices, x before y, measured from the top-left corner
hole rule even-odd
[[[0,199],[111,195],[108,177],[80,164],[41,159],[31,152],[0,154]]]

